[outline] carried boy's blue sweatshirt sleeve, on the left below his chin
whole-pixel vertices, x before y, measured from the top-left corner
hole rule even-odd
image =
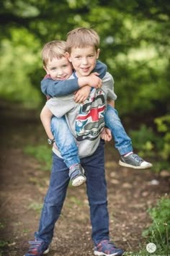
[[[79,90],[78,78],[68,79],[63,81],[55,81],[49,77],[45,77],[41,81],[41,90],[45,95],[50,97],[61,97],[74,93]]]

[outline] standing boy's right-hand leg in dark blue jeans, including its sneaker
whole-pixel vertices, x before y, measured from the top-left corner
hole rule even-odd
[[[104,141],[96,152],[81,159],[86,171],[86,192],[90,206],[92,239],[95,255],[122,255],[123,250],[109,241],[109,213],[107,210],[107,183],[104,171]]]

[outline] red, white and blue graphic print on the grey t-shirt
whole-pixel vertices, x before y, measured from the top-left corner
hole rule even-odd
[[[102,89],[92,89],[89,98],[81,104],[76,117],[76,140],[96,140],[104,128],[106,95]]]

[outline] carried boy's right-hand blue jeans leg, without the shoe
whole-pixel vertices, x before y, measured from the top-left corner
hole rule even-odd
[[[133,151],[132,141],[122,126],[117,110],[109,104],[107,104],[107,111],[104,114],[104,122],[106,127],[112,132],[112,137],[115,140],[115,148],[117,148],[120,155],[125,155]]]

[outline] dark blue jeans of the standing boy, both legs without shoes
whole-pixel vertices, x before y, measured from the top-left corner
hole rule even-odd
[[[98,244],[102,239],[109,239],[109,214],[107,210],[107,184],[104,171],[104,141],[86,158],[81,158],[86,175],[86,194],[89,200],[92,226],[92,239]],[[69,183],[68,168],[62,158],[53,153],[53,166],[50,184],[42,208],[39,230],[35,239],[50,244],[53,239],[55,222],[61,214]]]

